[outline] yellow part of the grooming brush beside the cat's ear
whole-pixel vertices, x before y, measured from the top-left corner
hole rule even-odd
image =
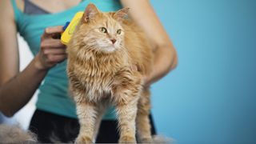
[[[78,25],[78,22],[82,18],[82,15],[83,15],[83,12],[78,12],[77,14],[75,14],[69,26],[67,26],[66,30],[62,33],[61,42],[64,45],[67,45],[70,42],[70,38],[74,33],[75,27]]]

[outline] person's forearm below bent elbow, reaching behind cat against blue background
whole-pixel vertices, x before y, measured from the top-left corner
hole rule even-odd
[[[160,78],[177,66],[177,53],[171,46],[162,46],[154,51],[154,66],[150,76],[146,76],[146,86],[157,82]]]

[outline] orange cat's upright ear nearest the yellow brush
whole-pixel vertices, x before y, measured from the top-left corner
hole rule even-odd
[[[99,14],[98,8],[93,3],[90,3],[88,6],[86,6],[86,10],[83,14],[83,21],[89,22],[97,14]]]

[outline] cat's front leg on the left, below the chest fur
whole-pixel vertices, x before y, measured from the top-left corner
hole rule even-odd
[[[93,143],[94,125],[97,115],[96,105],[93,102],[79,102],[77,103],[77,114],[80,131],[75,143]]]

